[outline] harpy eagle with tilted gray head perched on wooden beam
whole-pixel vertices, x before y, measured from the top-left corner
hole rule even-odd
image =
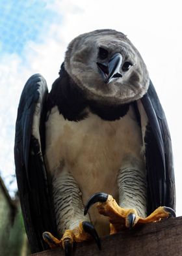
[[[73,242],[93,236],[100,247],[99,236],[175,216],[166,118],[142,57],[118,31],[73,39],[49,93],[40,74],[29,78],[14,153],[32,252],[70,255]]]

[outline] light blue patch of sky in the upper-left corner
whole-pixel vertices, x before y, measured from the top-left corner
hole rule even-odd
[[[55,21],[61,24],[58,12],[46,8],[52,1],[0,1],[0,52],[21,54],[29,40],[42,42]]]

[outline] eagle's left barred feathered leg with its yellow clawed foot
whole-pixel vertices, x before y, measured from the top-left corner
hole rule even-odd
[[[53,201],[57,218],[57,227],[62,238],[55,238],[50,232],[44,232],[43,238],[50,248],[62,246],[65,255],[72,254],[73,242],[82,242],[94,238],[100,248],[99,236],[90,223],[90,218],[84,216],[84,206],[81,191],[72,174],[63,170],[53,177]]]

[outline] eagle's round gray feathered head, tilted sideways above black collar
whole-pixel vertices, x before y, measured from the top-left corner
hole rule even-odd
[[[120,62],[112,61],[116,55],[120,56]],[[112,67],[112,79],[105,82],[103,76],[109,76],[112,62],[117,65],[117,71]],[[115,30],[79,35],[68,45],[64,63],[66,71],[86,91],[88,99],[125,104],[140,99],[148,90],[149,75],[142,57],[130,40]]]

